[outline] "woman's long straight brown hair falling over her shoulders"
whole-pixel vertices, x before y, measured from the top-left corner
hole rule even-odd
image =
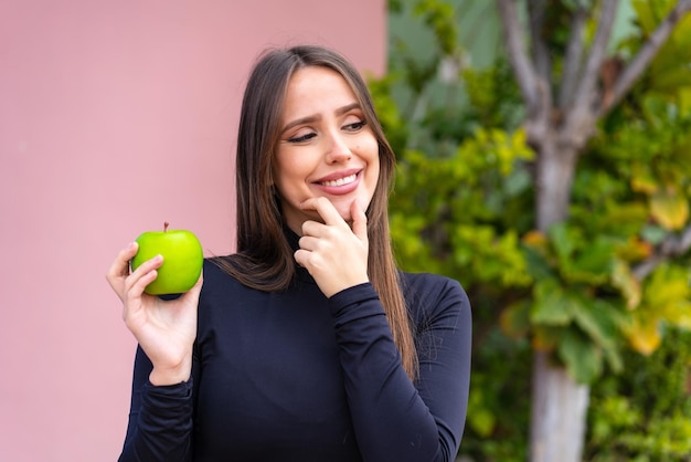
[[[395,155],[374,112],[368,86],[341,54],[316,45],[267,51],[249,75],[242,104],[236,154],[237,253],[215,259],[241,283],[261,291],[281,291],[295,276],[293,250],[283,230],[280,206],[272,187],[272,161],[288,81],[306,66],[338,72],[350,85],[379,145],[380,177],[366,210],[370,242],[368,274],[378,291],[394,343],[408,377],[417,374],[412,323],[408,318],[389,233],[389,192]]]

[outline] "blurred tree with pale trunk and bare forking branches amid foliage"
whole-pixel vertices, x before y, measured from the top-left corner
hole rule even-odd
[[[538,153],[535,220],[536,228],[544,232],[568,216],[578,151],[593,136],[597,120],[629,92],[674,25],[691,11],[691,0],[676,2],[612,82],[599,82],[599,76],[607,57],[618,0],[599,2],[602,8],[596,15],[588,13],[586,4],[589,2],[572,2],[575,4],[574,17],[561,86],[553,82],[551,51],[543,35],[545,29],[551,29],[545,28],[549,2],[534,0],[521,3],[530,19],[528,31],[521,27],[518,0],[497,0],[497,8],[508,57],[525,103],[528,143]],[[586,24],[589,20],[594,20],[597,28],[591,40],[584,41],[588,35]],[[529,38],[528,45],[525,38]],[[552,101],[554,95],[559,95],[556,106]],[[679,242],[669,245],[680,250],[691,246],[691,229]],[[653,260],[644,262],[636,273],[647,274],[665,253],[662,246]],[[535,353],[532,387],[530,461],[580,462],[589,387],[577,385],[565,368],[550,365],[549,354],[544,351]]]

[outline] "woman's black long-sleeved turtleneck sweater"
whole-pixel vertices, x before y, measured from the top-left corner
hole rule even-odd
[[[138,348],[120,461],[453,461],[466,419],[471,315],[453,280],[402,273],[419,375],[401,365],[370,283],[327,298],[248,288],[204,263],[192,377],[155,387]]]

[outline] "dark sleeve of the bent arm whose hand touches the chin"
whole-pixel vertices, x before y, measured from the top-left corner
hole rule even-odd
[[[415,385],[370,283],[330,298],[346,390],[365,461],[453,461],[466,420],[470,378],[470,305],[460,284],[444,279],[417,303],[424,323]]]

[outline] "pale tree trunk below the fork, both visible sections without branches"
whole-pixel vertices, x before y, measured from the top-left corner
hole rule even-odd
[[[560,143],[554,132],[536,146],[536,225],[545,232],[566,219],[577,150]],[[530,462],[581,462],[589,387],[576,384],[564,367],[533,356]]]

